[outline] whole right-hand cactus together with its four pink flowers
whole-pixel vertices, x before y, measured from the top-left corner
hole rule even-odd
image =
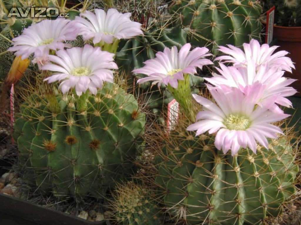
[[[245,43],[244,51],[220,47],[227,54],[216,58],[220,74],[205,78],[213,101],[192,95],[202,106],[197,115],[183,91],[189,88],[185,76],[211,63],[202,58],[208,49],[189,52],[188,44],[179,52],[165,49],[134,70],[147,75],[138,82],[168,85],[187,118],[154,145],[154,183],[173,218],[187,224],[259,224],[281,214],[296,192],[296,155],[275,125],[290,116],[279,106],[292,107],[286,97],[296,93],[289,86],[295,80],[284,72],[294,65],[287,52],[273,54],[276,48],[256,40]]]

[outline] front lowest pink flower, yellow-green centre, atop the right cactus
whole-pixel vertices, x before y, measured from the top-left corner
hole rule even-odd
[[[208,131],[217,132],[215,146],[217,149],[235,155],[240,147],[249,147],[256,153],[256,142],[268,148],[267,138],[277,138],[283,134],[281,129],[271,123],[287,118],[289,115],[268,110],[269,106],[256,106],[257,92],[261,85],[249,88],[247,94],[238,88],[212,87],[209,91],[216,104],[199,95],[194,99],[203,106],[203,111],[197,114],[196,123],[188,126],[188,131],[196,131],[196,136]],[[272,97],[275,98],[275,97]],[[273,102],[269,99],[267,102]]]

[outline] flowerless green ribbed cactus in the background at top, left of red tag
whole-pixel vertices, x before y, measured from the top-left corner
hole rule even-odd
[[[262,10],[257,0],[178,0],[171,10],[191,29],[191,43],[208,46],[213,54],[220,45],[242,46],[260,38]]]

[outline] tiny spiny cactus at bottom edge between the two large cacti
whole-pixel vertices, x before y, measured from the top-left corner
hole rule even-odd
[[[119,184],[111,202],[114,217],[123,225],[161,225],[160,209],[152,192],[144,185]]]

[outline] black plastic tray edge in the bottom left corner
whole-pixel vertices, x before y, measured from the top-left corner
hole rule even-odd
[[[0,159],[0,176],[7,172],[3,167],[9,164]],[[14,222],[13,222],[14,221]],[[22,222],[17,222],[22,221]],[[28,222],[26,222],[28,221]],[[1,225],[104,225],[106,221],[92,222],[48,209],[31,202],[0,194]]]

